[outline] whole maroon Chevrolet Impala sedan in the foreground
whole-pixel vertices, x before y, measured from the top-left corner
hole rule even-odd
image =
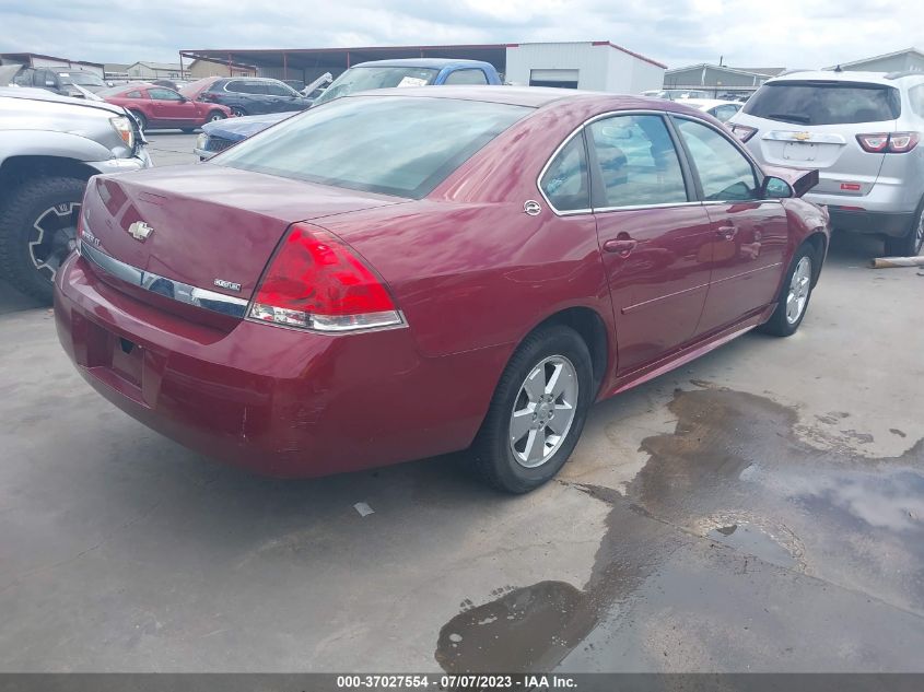
[[[60,341],[100,394],[280,476],[472,448],[525,492],[594,401],[802,322],[829,239],[717,120],[557,89],[383,90],[91,180]]]

